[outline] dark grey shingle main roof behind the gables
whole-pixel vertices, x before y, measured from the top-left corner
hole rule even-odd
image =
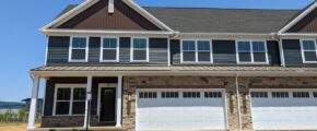
[[[77,4],[68,5],[58,16]],[[154,8],[146,11],[181,33],[277,33],[301,10]]]

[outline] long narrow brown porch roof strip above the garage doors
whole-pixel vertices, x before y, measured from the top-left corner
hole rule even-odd
[[[32,71],[309,71],[317,68],[283,68],[283,67],[39,67]]]

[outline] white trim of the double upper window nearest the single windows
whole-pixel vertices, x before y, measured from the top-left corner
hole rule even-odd
[[[195,41],[195,61],[184,61],[184,49],[183,49],[183,44],[186,40],[192,40]],[[210,44],[210,61],[198,61],[198,41],[209,41]],[[180,63],[204,63],[204,64],[212,64],[213,63],[213,48],[212,48],[212,39],[180,39]]]

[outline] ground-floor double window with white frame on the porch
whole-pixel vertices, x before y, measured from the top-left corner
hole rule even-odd
[[[55,108],[56,116],[84,115],[86,99],[85,85],[56,86]]]

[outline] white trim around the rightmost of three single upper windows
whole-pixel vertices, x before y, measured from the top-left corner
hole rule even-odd
[[[134,51],[134,48],[133,48],[134,40],[133,39],[137,39],[137,38],[146,40],[146,60],[134,60],[133,59],[133,51]],[[149,40],[150,40],[149,37],[131,37],[130,38],[130,62],[149,62],[150,61],[150,47],[149,47],[150,41]]]

